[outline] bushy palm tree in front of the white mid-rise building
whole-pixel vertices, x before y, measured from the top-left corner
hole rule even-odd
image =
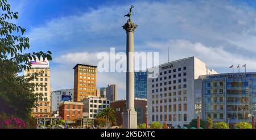
[[[112,108],[104,108],[101,112],[99,112],[96,116],[97,118],[106,118],[107,124],[109,126],[109,121],[115,121],[115,112]]]

